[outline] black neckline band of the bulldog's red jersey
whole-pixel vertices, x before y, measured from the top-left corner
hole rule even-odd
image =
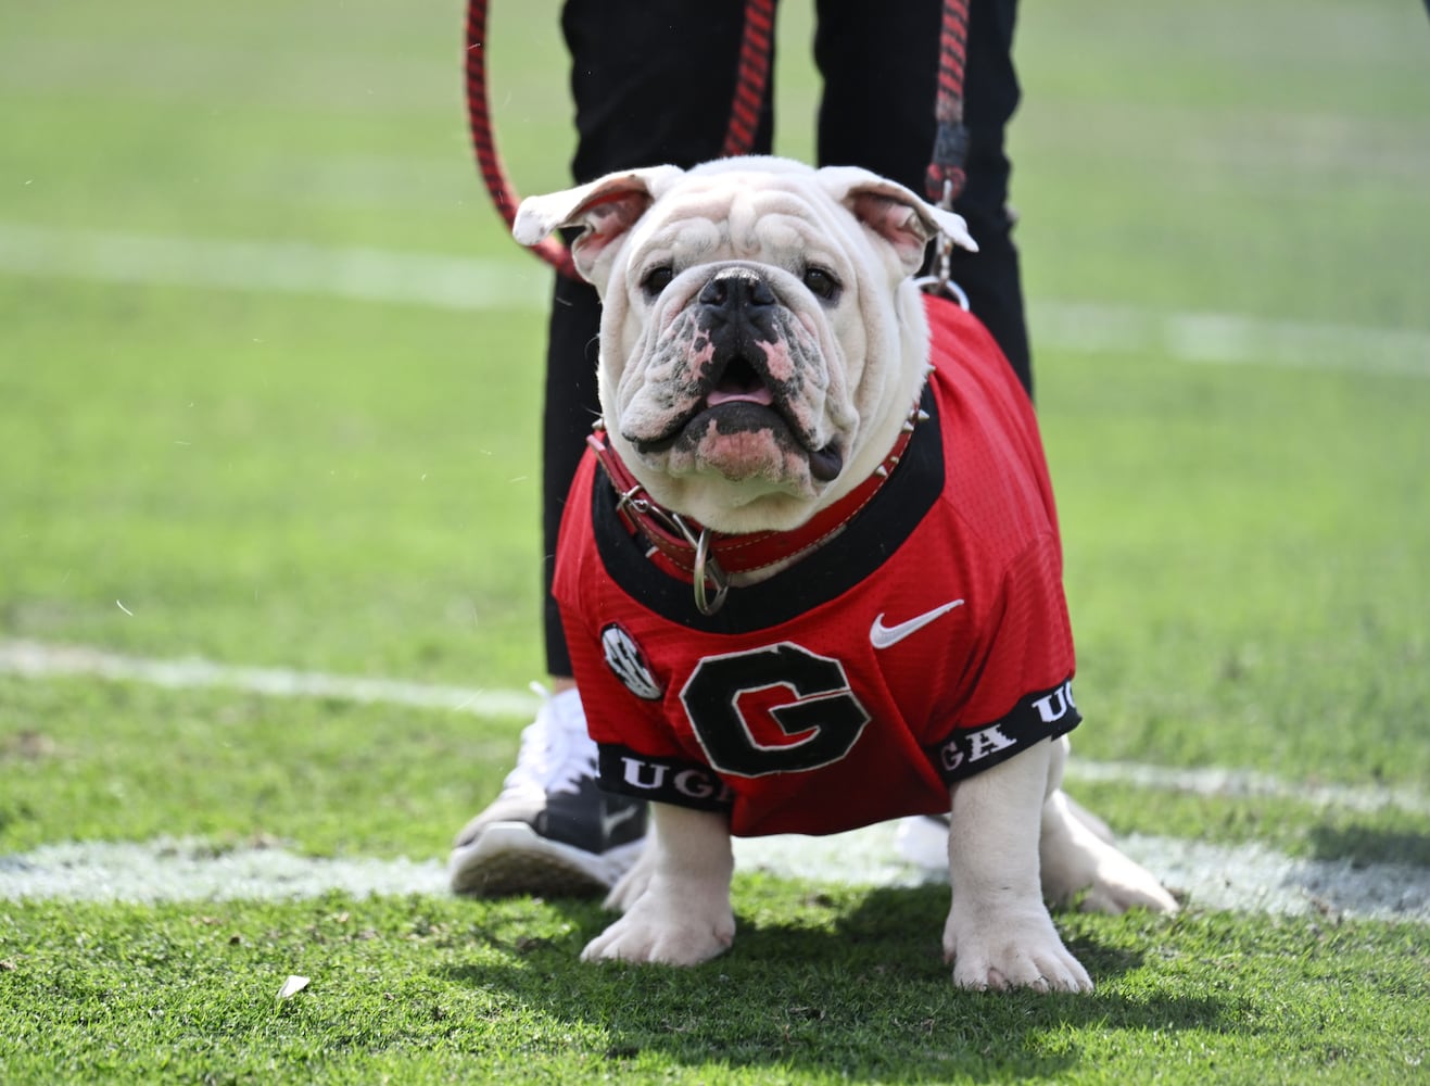
[[[708,634],[745,634],[788,622],[852,588],[878,569],[918,527],[944,492],[944,436],[930,385],[919,406],[927,422],[914,431],[899,465],[837,545],[822,547],[768,581],[732,588],[724,607],[705,615],[695,607],[689,581],[666,574],[646,558],[646,545],[616,514],[616,494],[596,471],[591,521],[601,562],[621,590],[671,622]]]

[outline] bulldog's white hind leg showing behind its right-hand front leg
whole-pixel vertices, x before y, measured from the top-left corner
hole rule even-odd
[[[1100,818],[1084,811],[1057,786],[1067,761],[1067,738],[1052,751],[1048,781],[1052,790],[1042,804],[1042,894],[1054,904],[1068,904],[1084,893],[1088,913],[1125,913],[1151,909],[1175,913],[1177,901],[1157,877],[1113,844]]]

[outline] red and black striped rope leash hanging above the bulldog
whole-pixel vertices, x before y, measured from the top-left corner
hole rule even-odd
[[[488,0],[468,0],[466,6],[466,116],[482,180],[486,182],[486,190],[492,195],[498,213],[511,228],[522,200],[506,177],[492,132],[490,102],[486,93],[486,4]],[[759,110],[765,100],[765,87],[769,84],[774,34],[775,0],[745,0],[745,33],[739,46],[739,74],[735,82],[735,100],[731,104],[729,129],[721,147],[724,157],[748,155],[755,146]],[[938,132],[925,183],[930,200],[950,207],[964,189],[964,160],[968,153],[968,136],[962,123],[968,0],[944,0],[938,41],[938,94],[934,103]],[[562,275],[576,276],[571,250],[555,238],[546,238],[532,248]]]

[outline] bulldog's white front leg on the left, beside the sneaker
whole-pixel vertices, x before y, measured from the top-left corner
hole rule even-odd
[[[724,816],[656,803],[651,818],[654,840],[608,899],[626,913],[586,944],[586,962],[694,966],[728,950],[735,937],[735,857]]]

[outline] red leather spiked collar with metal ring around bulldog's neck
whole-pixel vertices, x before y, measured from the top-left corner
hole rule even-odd
[[[616,512],[632,534],[651,544],[646,557],[684,579],[695,590],[695,605],[712,615],[725,602],[729,575],[792,564],[814,554],[832,539],[848,521],[878,492],[908,448],[914,426],[928,415],[915,403],[889,455],[878,468],[839,501],[817,512],[809,521],[785,532],[718,532],[678,512],[658,505],[636,481],[606,441],[606,431],[596,424],[586,442],[596,452],[611,485],[616,489]]]

